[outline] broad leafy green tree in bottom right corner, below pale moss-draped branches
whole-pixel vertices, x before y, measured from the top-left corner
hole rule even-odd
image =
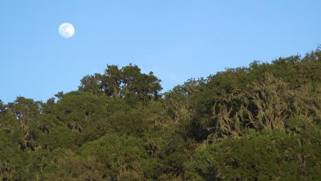
[[[301,131],[302,135],[292,136],[280,130],[247,130],[241,138],[199,147],[185,176],[188,180],[320,180],[320,146],[300,144],[296,137],[311,130]],[[313,132],[319,136],[310,140],[320,140],[320,130]]]

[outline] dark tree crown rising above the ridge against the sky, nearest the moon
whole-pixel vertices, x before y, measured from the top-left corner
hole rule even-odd
[[[108,65],[104,74],[86,75],[81,80],[80,91],[94,94],[105,93],[108,97],[128,100],[158,99],[158,92],[162,90],[160,80],[154,73],[141,73],[136,65],[129,64],[121,69],[117,65]]]

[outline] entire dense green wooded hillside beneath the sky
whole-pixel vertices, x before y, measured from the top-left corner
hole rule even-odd
[[[321,180],[321,49],[187,80],[108,65],[0,100],[0,180]]]

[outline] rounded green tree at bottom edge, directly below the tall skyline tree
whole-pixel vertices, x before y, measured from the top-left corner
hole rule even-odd
[[[110,133],[80,148],[86,158],[99,160],[106,180],[143,180],[141,159],[146,156],[139,138]]]

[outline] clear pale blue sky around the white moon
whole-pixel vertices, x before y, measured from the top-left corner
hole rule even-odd
[[[46,101],[106,64],[153,71],[164,90],[321,44],[321,1],[0,1],[0,99]],[[75,35],[58,34],[72,23]]]

